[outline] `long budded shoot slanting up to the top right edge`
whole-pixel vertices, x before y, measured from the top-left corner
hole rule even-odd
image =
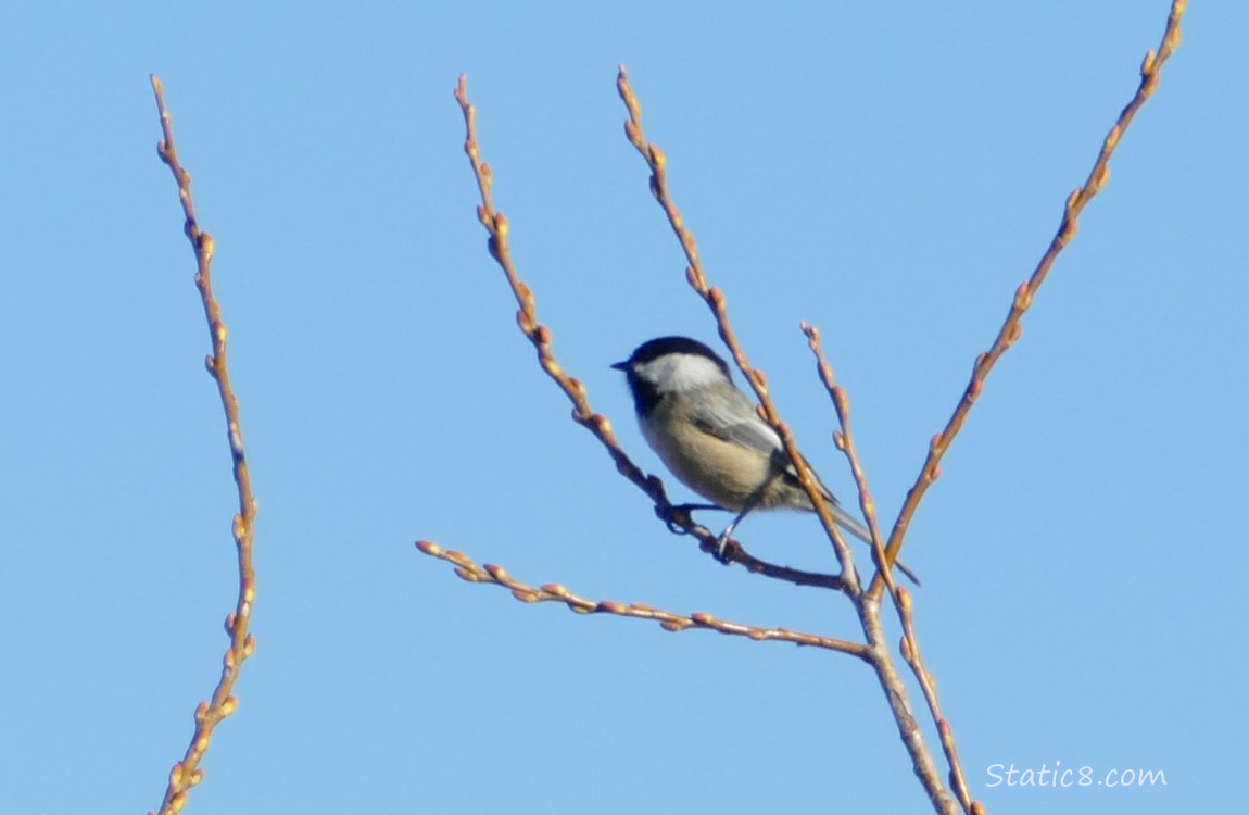
[[[907,499],[902,505],[902,510],[898,512],[898,520],[893,525],[893,531],[889,534],[889,544],[886,546],[886,555],[889,562],[893,562],[898,558],[898,551],[902,549],[903,540],[907,535],[907,529],[911,526],[911,519],[916,514],[916,509],[919,506],[919,501],[923,499],[928,488],[932,482],[940,478],[940,460],[949,449],[950,442],[958,431],[963,428],[963,422],[967,421],[967,414],[972,410],[972,405],[980,395],[980,390],[984,388],[984,379],[993,370],[993,366],[1002,358],[1007,350],[1014,345],[1023,332],[1023,315],[1032,306],[1033,298],[1037,295],[1037,290],[1045,281],[1045,276],[1049,274],[1050,266],[1054,265],[1054,260],[1058,258],[1059,252],[1070,242],[1072,238],[1075,236],[1077,222],[1080,212],[1088,205],[1093,198],[1102,191],[1105,186],[1107,180],[1110,178],[1110,156],[1114,154],[1117,146],[1119,146],[1119,140],[1123,138],[1124,131],[1127,131],[1128,125],[1132,124],[1133,118],[1140,106],[1145,104],[1145,100],[1154,92],[1158,88],[1158,80],[1162,76],[1163,62],[1172,55],[1175,46],[1179,45],[1180,38],[1180,18],[1184,16],[1184,9],[1188,5],[1185,0],[1174,0],[1170,6],[1170,14],[1167,18],[1167,29],[1163,31],[1162,42],[1158,46],[1157,54],[1150,49],[1145,54],[1144,62],[1140,65],[1140,84],[1137,86],[1137,91],[1132,98],[1132,101],[1124,106],[1123,111],[1119,114],[1119,119],[1110,128],[1110,131],[1105,135],[1102,141],[1102,149],[1098,152],[1097,161],[1093,162],[1093,169],[1089,171],[1088,179],[1085,179],[1082,186],[1075,188],[1069,196],[1067,196],[1067,204],[1063,209],[1063,220],[1058,226],[1058,231],[1054,238],[1049,241],[1049,248],[1042,256],[1040,262],[1037,264],[1035,270],[1032,276],[1024,282],[1019,284],[1015,290],[1014,300],[1010,304],[1010,310],[1007,312],[1005,321],[1002,324],[1002,329],[998,331],[997,338],[993,340],[993,345],[989,346],[988,351],[984,351],[975,358],[975,365],[972,368],[972,378],[967,384],[967,389],[963,391],[963,396],[958,401],[958,406],[954,408],[954,412],[950,415],[949,421],[940,432],[932,438],[928,445],[928,456],[924,459],[923,468],[919,470],[919,476],[916,479],[914,485],[907,491]],[[882,576],[878,574],[873,580],[869,591],[873,595],[879,596],[879,592],[884,589]]]

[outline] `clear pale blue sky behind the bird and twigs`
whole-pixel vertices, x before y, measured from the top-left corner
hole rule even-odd
[[[839,596],[668,535],[568,420],[486,254],[451,92],[466,71],[560,360],[657,471],[608,365],[714,328],[623,136],[627,64],[783,415],[852,496],[808,320],[892,518],[1167,8],[7,4],[2,809],[155,808],[226,646],[232,484],[155,71],[260,500],[259,649],[187,811],[924,811],[858,662],[525,606],[413,549],[854,635]],[[1247,24],[1194,4],[912,526],[921,640],[990,811],[1243,800]],[[829,568],[808,518],[739,538]],[[1167,786],[989,786],[1055,762]]]

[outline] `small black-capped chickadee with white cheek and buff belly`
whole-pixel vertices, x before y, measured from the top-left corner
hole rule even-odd
[[[814,511],[781,438],[733,385],[728,364],[713,350],[689,338],[661,336],[612,368],[628,378],[642,435],[668,470],[698,495],[737,512],[717,541],[721,559],[733,530],[753,510]],[[816,484],[833,519],[871,542],[868,530],[818,476]]]

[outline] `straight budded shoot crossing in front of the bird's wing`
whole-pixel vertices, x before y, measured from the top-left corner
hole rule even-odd
[[[667,156],[663,150],[654,142],[646,140],[646,134],[642,130],[642,105],[633,92],[632,85],[628,81],[628,72],[623,65],[620,66],[620,72],[616,78],[616,89],[620,92],[621,100],[624,102],[624,108],[628,110],[628,120],[624,122],[624,135],[629,140],[642,159],[646,161],[647,166],[651,168],[651,194],[654,195],[654,200],[658,201],[659,206],[663,209],[664,215],[668,218],[668,224],[672,226],[672,231],[676,232],[677,240],[681,241],[681,248],[686,254],[686,280],[689,282],[691,288],[698,296],[703,299],[707,308],[711,309],[712,315],[716,318],[716,325],[719,331],[719,339],[723,340],[726,348],[733,356],[733,361],[737,368],[742,371],[742,376],[749,382],[751,388],[754,390],[756,398],[759,400],[759,415],[767,421],[773,430],[781,436],[781,442],[784,445],[786,452],[793,461],[794,470],[798,475],[798,481],[802,484],[811,499],[812,506],[816,509],[816,514],[819,515],[819,522],[823,524],[824,531],[828,534],[828,540],[833,545],[833,550],[837,554],[837,560],[842,568],[842,581],[846,585],[847,594],[857,594],[859,591],[858,578],[854,574],[854,559],[851,554],[851,548],[842,536],[841,529],[838,529],[837,522],[833,520],[832,512],[828,511],[824,500],[819,491],[819,482],[812,474],[807,460],[802,456],[798,450],[797,442],[793,440],[793,432],[789,430],[782,419],[781,414],[772,401],[772,396],[768,392],[767,378],[763,371],[753,368],[749,360],[746,358],[746,351],[742,350],[741,344],[737,341],[737,336],[733,332],[733,326],[728,320],[728,308],[724,299],[724,292],[721,291],[718,286],[712,286],[707,282],[707,275],[702,268],[702,260],[698,258],[698,244],[694,240],[693,232],[686,228],[684,218],[681,215],[681,210],[677,209],[676,202],[672,200],[672,195],[668,191],[668,171],[667,171]]]

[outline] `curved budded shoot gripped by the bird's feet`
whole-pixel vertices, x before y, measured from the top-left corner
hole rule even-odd
[[[503,270],[507,284],[512,289],[512,295],[520,306],[516,312],[516,322],[533,345],[535,351],[537,351],[538,364],[546,371],[547,376],[560,386],[560,390],[568,398],[568,401],[572,402],[572,420],[598,439],[607,449],[612,461],[615,461],[616,470],[637,485],[654,502],[656,514],[668,522],[669,528],[676,528],[683,534],[696,536],[698,546],[703,551],[713,551],[717,542],[716,536],[708,529],[693,522],[688,512],[682,512],[678,508],[673,506],[663,489],[662,480],[654,475],[647,475],[641,468],[633,464],[633,460],[629,459],[616,440],[616,432],[612,430],[607,418],[596,412],[590,406],[585,384],[576,376],[570,376],[558,360],[556,360],[551,348],[551,329],[538,321],[533,290],[521,280],[520,274],[516,271],[516,265],[512,262],[512,254],[507,242],[507,218],[495,209],[492,195],[495,176],[490,164],[481,159],[481,150],[477,146],[477,111],[468,101],[468,78],[463,74],[460,75],[455,96],[465,118],[465,154],[472,165],[473,178],[477,180],[477,189],[481,192],[481,204],[477,206],[477,220],[481,221],[481,225],[486,228],[486,232],[490,235],[490,254]],[[842,580],[836,575],[802,571],[769,564],[754,558],[741,546],[728,548],[724,555],[732,562],[741,564],[753,574],[786,580],[799,586],[844,590]]]

